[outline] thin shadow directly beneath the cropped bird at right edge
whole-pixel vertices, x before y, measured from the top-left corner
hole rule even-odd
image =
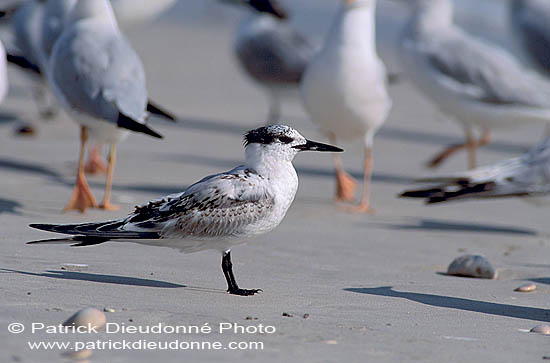
[[[525,236],[536,236],[538,233],[534,230],[513,226],[499,226],[493,224],[481,224],[470,222],[453,222],[439,219],[418,219],[414,224],[380,224],[374,223],[373,226],[383,226],[393,230],[409,231],[440,231],[440,232],[470,232],[470,233],[496,233],[496,234],[516,234]]]

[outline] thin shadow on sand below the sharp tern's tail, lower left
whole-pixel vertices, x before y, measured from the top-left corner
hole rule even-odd
[[[143,279],[139,277],[93,274],[93,273],[87,273],[87,272],[75,272],[75,271],[64,271],[64,270],[48,270],[42,273],[35,273],[35,272],[18,271],[18,270],[3,268],[3,269],[0,269],[0,271],[18,273],[18,274],[27,275],[27,276],[49,277],[49,278],[64,279],[64,280],[91,281],[91,282],[100,282],[105,284],[143,286],[143,287],[161,287],[161,288],[187,287],[185,285],[174,284],[172,282]]]

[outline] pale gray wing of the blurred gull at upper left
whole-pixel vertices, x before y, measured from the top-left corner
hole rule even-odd
[[[143,65],[121,34],[80,21],[56,42],[50,76],[68,105],[116,123],[119,113],[144,121]]]

